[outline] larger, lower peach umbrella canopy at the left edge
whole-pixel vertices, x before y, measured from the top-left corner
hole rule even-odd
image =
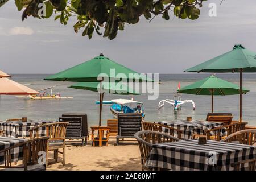
[[[1,95],[36,95],[39,92],[8,78],[0,78]]]

